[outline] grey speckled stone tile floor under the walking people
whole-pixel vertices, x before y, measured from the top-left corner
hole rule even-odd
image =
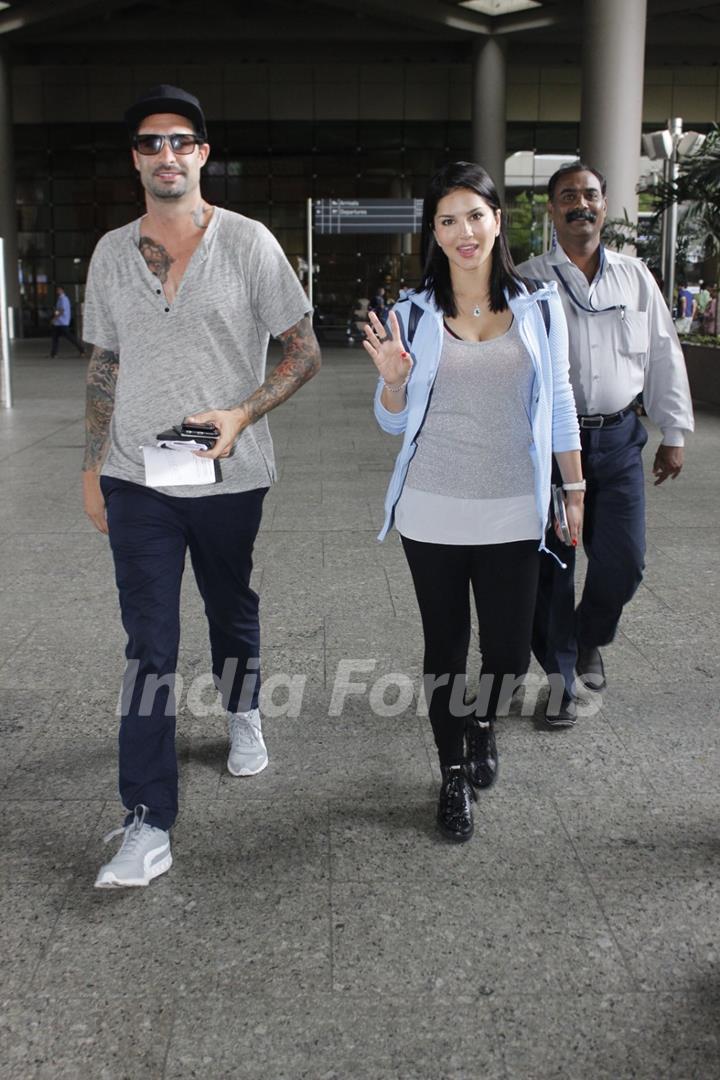
[[[188,576],[176,863],[100,893],[124,643],[107,543],[80,510],[84,370],[16,351],[17,407],[0,416],[0,1077],[717,1080],[720,417],[698,410],[682,477],[648,486],[647,577],[606,652],[601,711],[548,731],[518,702],[457,849],[434,831],[417,702],[393,708],[391,686],[386,715],[368,692],[331,707],[343,661],[365,662],[352,678],[376,704],[383,676],[417,688],[421,638],[397,539],[375,539],[395,444],[370,365],[329,351],[273,415],[281,482],[256,558],[264,674],[304,677],[300,713],[277,686],[270,767],[225,771]]]

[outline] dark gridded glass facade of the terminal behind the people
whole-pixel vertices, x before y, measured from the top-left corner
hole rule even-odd
[[[248,121],[214,123],[203,192],[210,203],[268,225],[305,278],[307,200],[421,198],[443,162],[468,159],[471,125],[436,121]],[[508,153],[572,157],[578,125],[508,124]],[[98,238],[142,213],[142,191],[121,124],[15,127],[18,257],[26,335],[44,334],[56,285],[82,302]],[[508,191],[518,257],[540,249],[542,211]],[[315,305],[342,333],[361,297],[381,284],[391,297],[420,274],[418,235],[314,238]]]

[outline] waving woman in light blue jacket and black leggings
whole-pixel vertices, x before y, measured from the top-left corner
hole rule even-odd
[[[437,821],[449,839],[467,840],[475,788],[498,773],[503,679],[521,678],[530,660],[553,453],[574,543],[584,482],[562,308],[555,286],[530,292],[515,269],[480,165],[456,162],[430,181],[422,255],[420,288],[386,330],[370,315],[364,343],[380,374],[378,422],[404,436],[380,538],[398,529],[420,607],[443,774]],[[483,667],[468,708],[471,590]]]

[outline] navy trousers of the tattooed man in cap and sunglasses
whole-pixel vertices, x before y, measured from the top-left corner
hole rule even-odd
[[[213,674],[229,712],[257,707],[258,596],[249,586],[253,545],[267,488],[196,499],[101,477],[127,666],[120,721],[120,796],[146,821],[177,815],[175,673],[186,552],[209,624]],[[130,819],[128,819],[130,820]]]

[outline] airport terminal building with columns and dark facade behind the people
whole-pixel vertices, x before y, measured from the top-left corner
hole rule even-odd
[[[82,301],[97,239],[140,212],[121,117],[160,81],[203,102],[205,198],[266,222],[305,283],[309,199],[418,198],[444,161],[474,158],[504,181],[521,259],[547,241],[533,197],[559,162],[582,149],[611,214],[633,218],[640,126],[720,120],[717,3],[649,0],[646,19],[644,0],[27,0],[0,35],[0,224],[29,336],[57,284]],[[418,237],[318,235],[313,262],[318,314],[341,324],[379,284],[417,282]]]

